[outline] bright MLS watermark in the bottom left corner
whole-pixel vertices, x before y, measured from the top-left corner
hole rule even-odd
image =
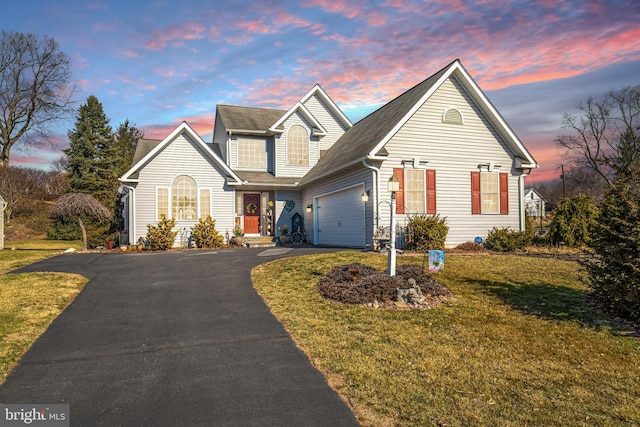
[[[69,405],[2,404],[0,427],[69,427]]]

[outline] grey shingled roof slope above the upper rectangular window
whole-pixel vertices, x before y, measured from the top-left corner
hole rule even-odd
[[[287,110],[270,108],[239,107],[236,105],[217,105],[216,116],[220,117],[228,132],[244,134],[266,134]]]

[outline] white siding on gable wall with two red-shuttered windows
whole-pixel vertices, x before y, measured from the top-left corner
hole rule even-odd
[[[464,117],[464,125],[443,123],[442,114],[455,106]],[[473,241],[477,236],[486,237],[493,227],[520,229],[520,172],[513,168],[513,157],[506,142],[476,102],[466,93],[454,77],[442,86],[396,132],[385,149],[389,152],[384,161],[380,182],[382,196],[388,200],[384,189],[393,173],[403,161],[419,157],[428,169],[437,171],[438,214],[446,218],[449,226],[447,246]],[[472,215],[469,174],[480,164],[501,165],[500,172],[509,173],[508,215]],[[380,200],[385,200],[381,198]],[[499,209],[499,203],[497,203]],[[484,213],[484,212],[483,212]],[[382,224],[389,222],[388,209],[380,206]],[[407,215],[398,215],[398,223],[406,224]]]

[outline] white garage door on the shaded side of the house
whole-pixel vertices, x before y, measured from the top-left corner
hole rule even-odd
[[[354,187],[318,198],[318,244],[365,246],[362,187]]]

